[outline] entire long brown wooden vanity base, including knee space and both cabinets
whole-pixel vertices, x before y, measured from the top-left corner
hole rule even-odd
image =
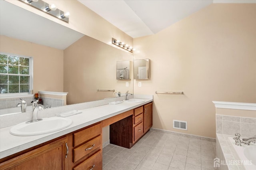
[[[152,127],[152,102],[0,160],[0,170],[102,170],[102,127],[131,148]]]

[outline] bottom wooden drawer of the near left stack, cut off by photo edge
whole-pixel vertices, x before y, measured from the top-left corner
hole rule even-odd
[[[79,164],[74,170],[102,170],[102,150]]]

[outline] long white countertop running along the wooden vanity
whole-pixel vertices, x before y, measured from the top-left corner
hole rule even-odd
[[[31,148],[38,144],[47,142],[54,138],[68,134],[80,128],[92,125],[104,119],[124,113],[136,107],[145,105],[153,99],[144,99],[143,103],[120,103],[118,105],[102,105],[81,110],[82,113],[66,117],[72,120],[72,124],[56,132],[34,135],[34,136],[14,136],[10,134],[10,127],[0,128],[0,158],[12,155],[22,150]]]

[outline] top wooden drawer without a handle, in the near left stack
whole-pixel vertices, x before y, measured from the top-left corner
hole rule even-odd
[[[92,127],[81,130],[80,132],[74,133],[74,147],[94,138],[95,136],[98,136],[99,134],[101,134],[101,132],[102,124],[99,123]]]

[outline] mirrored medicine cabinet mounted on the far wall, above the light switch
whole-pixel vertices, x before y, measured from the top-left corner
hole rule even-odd
[[[134,60],[134,79],[150,79],[150,59]]]

